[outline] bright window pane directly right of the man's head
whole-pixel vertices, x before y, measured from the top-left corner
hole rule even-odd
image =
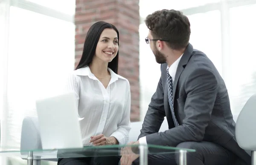
[[[193,48],[204,52],[219,73],[222,72],[221,61],[221,17],[220,11],[209,11],[187,16],[191,35],[189,42]]]

